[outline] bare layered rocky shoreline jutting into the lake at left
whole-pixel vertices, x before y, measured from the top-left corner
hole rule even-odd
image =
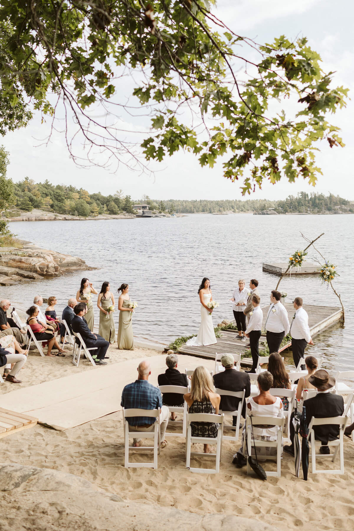
[[[0,285],[13,286],[17,282],[60,277],[65,273],[96,269],[79,256],[41,249],[31,242],[20,240],[23,249],[0,247]]]

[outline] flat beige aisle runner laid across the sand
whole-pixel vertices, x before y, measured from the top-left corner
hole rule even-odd
[[[205,365],[210,371],[214,370],[214,362],[209,359],[183,355],[178,358],[180,372],[195,369],[197,365]],[[123,388],[137,379],[136,368],[142,359],[146,358],[98,366],[91,371],[12,391],[1,397],[0,405],[2,408],[38,417],[40,424],[47,424],[56,430],[67,430],[122,409],[120,398]],[[158,375],[167,369],[166,355],[148,359],[151,363],[149,381],[157,385]]]

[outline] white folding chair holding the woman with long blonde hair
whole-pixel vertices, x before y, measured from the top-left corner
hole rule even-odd
[[[192,437],[191,422],[215,422],[219,424],[217,437]],[[212,413],[188,413],[187,414],[187,438],[186,438],[186,468],[190,472],[201,472],[202,474],[215,474],[220,470],[221,449],[222,449],[222,432],[223,432],[223,415]],[[196,444],[216,444],[216,453],[191,452],[192,443]],[[191,456],[215,457],[215,468],[191,468]]]

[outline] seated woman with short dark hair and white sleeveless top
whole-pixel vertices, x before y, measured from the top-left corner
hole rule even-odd
[[[258,389],[260,390],[260,394],[256,397],[249,398],[247,402],[248,414],[251,416],[253,415],[259,417],[283,417],[282,401],[279,397],[273,397],[269,392],[270,388],[273,385],[273,376],[271,375],[271,373],[268,371],[262,372],[260,375],[258,375],[257,383]],[[278,438],[278,430],[279,426],[253,425],[253,436],[255,441],[258,440],[275,442]],[[234,460],[232,461],[232,463],[237,467],[242,467],[247,464],[247,461],[245,459],[247,456],[246,448],[244,453],[245,434],[246,423],[242,431],[241,447],[237,450],[237,453],[235,453]],[[256,451],[257,457],[262,457],[262,455],[277,455],[277,448],[274,447],[258,447],[256,448]]]

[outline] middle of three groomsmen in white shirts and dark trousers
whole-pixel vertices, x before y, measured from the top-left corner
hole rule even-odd
[[[273,289],[270,299],[271,305],[268,310],[264,328],[266,330],[269,354],[272,354],[272,352],[279,352],[283,337],[290,330],[290,324],[288,312],[280,302],[281,293]]]

